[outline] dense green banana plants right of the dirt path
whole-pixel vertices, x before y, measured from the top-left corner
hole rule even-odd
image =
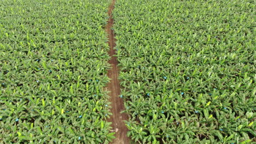
[[[114,31],[129,136],[255,141],[253,1],[119,0]]]

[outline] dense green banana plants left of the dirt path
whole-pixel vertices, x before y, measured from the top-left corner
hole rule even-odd
[[[108,143],[109,1],[0,1],[0,143]]]

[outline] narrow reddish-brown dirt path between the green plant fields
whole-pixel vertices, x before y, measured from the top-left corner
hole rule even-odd
[[[128,129],[125,126],[125,123],[123,122],[125,119],[127,119],[127,116],[124,113],[120,113],[124,110],[124,104],[123,100],[118,97],[120,95],[120,85],[118,81],[118,61],[117,57],[114,57],[115,50],[113,49],[115,47],[115,38],[114,38],[114,32],[111,29],[114,23],[113,17],[112,17],[112,10],[114,9],[115,0],[112,0],[112,4],[109,7],[108,10],[108,24],[106,27],[106,32],[108,33],[108,39],[109,39],[109,56],[111,57],[109,64],[111,65],[111,69],[108,70],[108,77],[111,79],[110,82],[107,85],[108,91],[110,91],[110,102],[112,103],[112,109],[111,112],[113,115],[108,119],[108,122],[112,122],[112,127],[115,131],[115,137],[116,139],[113,140],[112,143],[114,144],[129,144],[129,138],[126,136]]]

